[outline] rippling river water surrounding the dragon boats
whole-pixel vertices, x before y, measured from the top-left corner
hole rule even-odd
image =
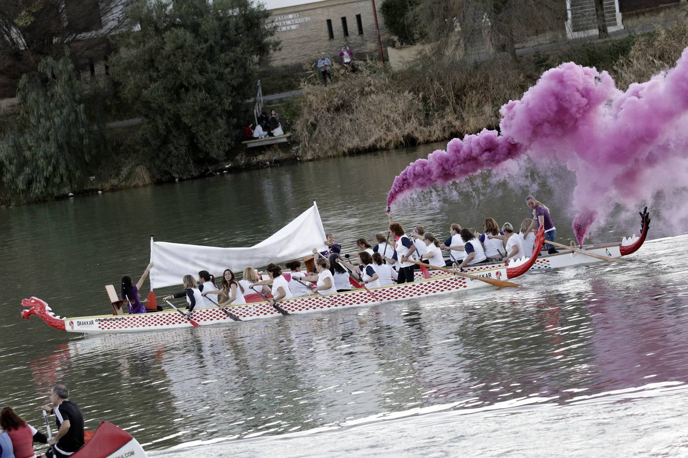
[[[652,208],[649,238],[663,238],[633,262],[528,273],[517,289],[140,335],[20,317],[32,295],[62,316],[107,313],[103,285],[138,279],[149,233],[250,246],[312,199],[353,252],[385,229],[394,176],[432,148],[0,209],[1,404],[39,426],[37,407],[63,382],[87,428],[108,420],[164,457],[688,455],[688,236]],[[572,236],[569,184],[537,187],[559,240]],[[517,225],[531,190],[476,181],[395,216],[444,237],[485,216]],[[619,216],[592,241],[639,224]]]

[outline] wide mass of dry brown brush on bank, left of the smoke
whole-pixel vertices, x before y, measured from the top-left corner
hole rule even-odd
[[[398,148],[496,126],[498,108],[528,87],[502,61],[471,67],[427,65],[386,73],[361,65],[333,83],[303,85],[294,135],[304,159]]]

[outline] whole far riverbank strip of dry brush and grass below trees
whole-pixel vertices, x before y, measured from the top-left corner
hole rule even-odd
[[[541,73],[561,62],[573,61],[609,71],[617,87],[625,90],[632,82],[646,81],[673,67],[685,47],[688,21],[641,36],[572,45],[547,54],[536,52],[521,56],[517,65],[508,59],[468,66],[424,61],[393,73],[376,63],[358,62],[358,73],[334,73],[327,87],[321,83],[319,73],[313,71],[303,80],[303,96],[281,109],[286,130],[294,133],[297,147],[246,150],[237,143],[224,153],[223,159],[192,164],[193,171],[180,176],[193,178],[273,163],[447,141],[482,128],[497,128],[499,107],[520,98]],[[102,128],[113,119],[108,114],[113,109],[120,117],[136,116],[129,113],[127,106],[112,102],[117,100],[116,93],[103,93],[107,95],[105,100],[87,104],[89,119],[100,119],[94,124],[101,127],[103,145],[92,154],[80,184],[69,191],[86,194],[175,179],[169,168],[160,166],[155,152],[137,141],[140,126]],[[250,117],[248,108],[245,117]],[[0,170],[0,174],[3,172]],[[18,198],[12,189],[0,188],[0,205],[22,203],[28,202]]]

